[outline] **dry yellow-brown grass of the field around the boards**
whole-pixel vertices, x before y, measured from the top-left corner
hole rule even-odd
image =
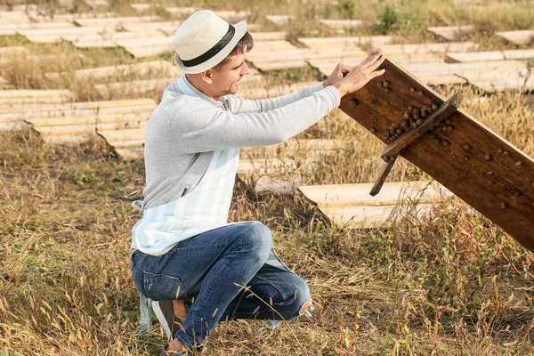
[[[35,4],[49,13],[65,10],[59,1]],[[81,1],[72,4],[77,12],[96,12]],[[462,40],[479,44],[479,51],[500,51],[531,49],[532,44],[510,44],[492,36],[495,32],[534,28],[529,1],[488,0],[481,7],[447,0],[166,4],[247,10],[249,22],[262,31],[283,30],[292,43],[311,34],[442,42],[425,28],[470,24],[474,30]],[[15,4],[0,0],[0,5]],[[122,0],[98,11],[136,13]],[[145,13],[172,18],[158,4]],[[280,29],[265,14],[295,20]],[[336,32],[321,26],[320,18],[366,24]],[[80,50],[69,43],[0,36],[0,48],[10,46],[24,46],[47,60],[5,61],[0,76],[10,83],[8,89],[69,89],[76,101],[139,98],[131,93],[102,98],[92,82],[72,77],[77,69],[139,61],[122,48]],[[168,54],[156,59],[171,61]],[[531,69],[534,63],[527,63]],[[44,76],[60,69],[68,75]],[[324,78],[311,66],[262,74],[273,85]],[[469,85],[435,88],[446,97],[464,93],[462,109],[534,157],[529,93],[483,93]],[[158,102],[164,89],[143,97]],[[296,139],[342,141],[336,152],[312,158],[312,168],[298,170],[308,185],[373,182],[382,166],[384,144],[339,110]],[[308,159],[302,150],[282,154],[287,156],[280,159],[302,164]],[[395,182],[419,179],[430,178],[405,160],[389,176]],[[143,188],[142,160],[120,158],[100,136],[62,145],[45,142],[29,128],[0,131],[0,355],[158,354],[165,337],[157,322],[152,336],[135,336],[139,294],[129,247],[131,228],[142,214],[131,202],[142,198]],[[207,354],[534,354],[532,254],[459,199],[436,206],[432,219],[417,223],[410,218],[414,209],[392,216],[388,229],[342,229],[298,193],[258,194],[253,185],[237,182],[230,220],[258,220],[271,229],[279,255],[309,282],[316,309],[312,318],[283,322],[272,332],[262,321],[222,323],[209,339]]]

